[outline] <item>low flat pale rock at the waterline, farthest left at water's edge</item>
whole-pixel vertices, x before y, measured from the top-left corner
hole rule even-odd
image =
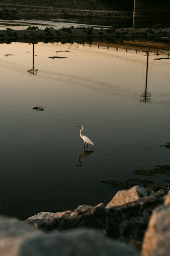
[[[29,217],[28,219],[52,219],[57,217],[63,217],[64,215],[70,216],[71,211],[65,212],[39,212],[36,215]]]

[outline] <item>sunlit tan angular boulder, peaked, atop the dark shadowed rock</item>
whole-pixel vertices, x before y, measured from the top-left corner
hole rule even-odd
[[[134,186],[128,190],[119,190],[113,199],[107,204],[108,207],[119,206],[145,197],[158,197],[152,190],[146,187]]]

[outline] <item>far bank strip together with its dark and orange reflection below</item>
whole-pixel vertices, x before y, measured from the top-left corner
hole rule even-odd
[[[34,28],[34,29],[31,29]],[[92,43],[103,42],[105,45],[127,45],[131,48],[158,48],[170,50],[170,28],[168,29],[94,29],[81,28],[46,28],[44,30],[31,27],[25,30],[7,28],[0,30],[0,43],[25,42],[62,42],[62,43]]]

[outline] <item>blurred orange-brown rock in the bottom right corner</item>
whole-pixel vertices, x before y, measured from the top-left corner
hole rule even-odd
[[[143,240],[143,256],[170,255],[170,204],[155,210]]]

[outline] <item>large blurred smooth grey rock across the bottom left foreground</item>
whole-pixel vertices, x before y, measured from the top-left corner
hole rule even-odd
[[[139,256],[94,230],[43,233],[16,219],[0,218],[1,256]]]

